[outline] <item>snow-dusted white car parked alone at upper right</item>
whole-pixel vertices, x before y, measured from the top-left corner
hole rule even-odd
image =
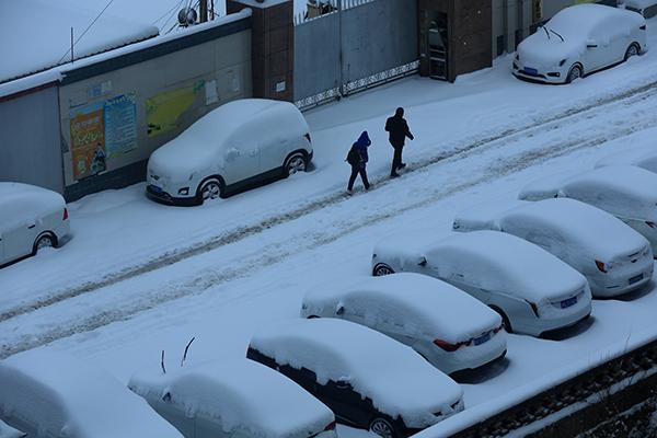
[[[514,74],[569,83],[646,48],[643,16],[602,4],[577,4],[557,12],[518,45]]]

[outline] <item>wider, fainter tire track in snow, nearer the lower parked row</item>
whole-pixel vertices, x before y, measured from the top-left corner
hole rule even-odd
[[[633,103],[648,100],[652,96],[652,94],[643,95],[641,99],[625,104],[630,107]],[[548,139],[546,141],[541,142],[540,146],[534,147],[534,149],[520,150],[520,152],[516,152],[510,157],[493,160],[493,164],[487,168],[484,173],[477,173],[465,181],[448,184],[440,188],[427,188],[422,193],[418,193],[413,199],[396,203],[393,206],[382,203],[382,206],[372,208],[370,212],[364,215],[364,217],[359,218],[357,221],[344,221],[337,217],[333,220],[331,226],[324,223],[322,224],[321,230],[314,230],[311,239],[309,239],[308,230],[299,230],[299,233],[303,237],[302,239],[295,239],[293,237],[286,235],[285,241],[270,243],[246,257],[240,257],[240,261],[235,262],[233,266],[222,266],[220,269],[206,268],[196,273],[196,277],[186,281],[170,284],[165,287],[157,287],[140,292],[140,296],[130,297],[129,302],[119,302],[115,309],[97,311],[91,315],[85,313],[83,316],[73,318],[73,322],[67,324],[50,323],[50,326],[47,326],[48,324],[46,322],[43,326],[38,327],[38,330],[43,328],[43,332],[41,333],[23,333],[16,336],[18,338],[5,342],[0,347],[0,358],[5,358],[19,351],[35,348],[74,334],[90,332],[114,322],[128,320],[135,314],[157,308],[169,301],[203,293],[211,287],[233,281],[262,268],[275,265],[300,252],[314,250],[319,246],[330,244],[346,234],[385,221],[408,211],[410,209],[426,207],[448,198],[454,193],[463,192],[476,185],[485,184],[511,173],[522,171],[543,161],[569,154],[576,150],[595,148],[607,141],[626,137],[635,131],[657,126],[657,112],[637,108],[632,116],[633,122],[629,127],[620,127],[622,126],[621,123],[608,124],[604,129],[593,130],[591,134],[588,126],[585,126],[576,132],[577,135],[570,132],[568,135],[569,138],[561,142],[552,143],[550,142],[550,139]],[[462,161],[482,152],[482,150],[473,149],[471,150],[471,153],[452,155],[449,163],[446,165],[459,165]],[[430,171],[430,169],[425,169],[425,171]],[[407,174],[407,178],[422,177],[422,172]],[[239,241],[239,239],[235,240],[235,242],[237,241]],[[290,242],[293,242],[293,244],[290,244]],[[48,309],[42,309],[41,311],[47,312]],[[26,318],[30,316],[31,315],[26,315]],[[39,321],[47,320],[39,316],[41,315],[35,315]],[[0,326],[5,325],[7,323],[0,323]],[[4,332],[9,333],[10,331]]]

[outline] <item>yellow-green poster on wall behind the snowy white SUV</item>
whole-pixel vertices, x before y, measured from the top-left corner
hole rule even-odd
[[[158,93],[146,100],[146,123],[148,136],[171,132],[191,124],[195,118],[186,115],[197,100],[205,102],[205,81],[197,81],[193,85],[183,87],[172,91]]]

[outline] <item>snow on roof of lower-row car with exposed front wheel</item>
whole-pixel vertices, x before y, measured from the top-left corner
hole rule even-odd
[[[427,250],[441,278],[500,291],[534,303],[586,287],[586,278],[541,247],[499,231],[453,233]]]

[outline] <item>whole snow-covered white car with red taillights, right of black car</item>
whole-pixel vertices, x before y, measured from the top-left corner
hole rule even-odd
[[[303,318],[339,318],[408,345],[446,373],[506,354],[500,316],[462,290],[419,274],[369,277],[310,290]]]

